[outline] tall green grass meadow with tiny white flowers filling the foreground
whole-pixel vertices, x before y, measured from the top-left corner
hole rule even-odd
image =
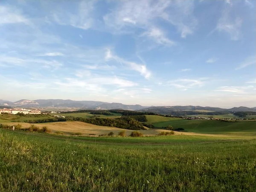
[[[0,131],[0,191],[255,189],[256,140],[114,145]]]

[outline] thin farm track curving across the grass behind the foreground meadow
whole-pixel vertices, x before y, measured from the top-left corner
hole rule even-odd
[[[16,132],[16,131],[15,131]],[[197,144],[197,143],[222,143],[222,142],[234,142],[234,141],[247,141],[247,140],[252,140],[252,139],[236,139],[236,140],[210,140],[210,141],[198,141],[198,142],[179,142],[179,143],[116,143],[116,142],[105,142],[105,141],[91,141],[91,140],[86,140],[86,139],[72,139],[70,137],[67,138],[61,138],[58,136],[50,135],[50,134],[45,134],[45,135],[38,135],[38,134],[33,134],[33,133],[28,133],[28,132],[16,132],[18,134],[24,134],[24,135],[33,135],[37,137],[47,137],[47,138],[53,138],[53,139],[58,139],[58,140],[70,140],[70,141],[79,141],[79,142],[84,142],[84,143],[99,143],[99,144],[111,144],[111,145],[180,145],[180,144]]]

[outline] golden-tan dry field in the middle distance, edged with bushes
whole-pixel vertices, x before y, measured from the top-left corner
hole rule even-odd
[[[30,123],[24,123],[24,122],[9,122],[5,123],[7,125],[22,125],[23,128],[29,127]],[[42,128],[43,126],[47,126],[53,133],[56,131],[61,131],[65,134],[69,133],[81,133],[84,135],[89,134],[96,134],[98,136],[99,134],[108,134],[109,132],[113,131],[115,135],[119,133],[119,131],[126,131],[126,135],[131,134],[134,130],[128,130],[128,129],[121,129],[116,127],[107,127],[107,126],[99,126],[99,125],[93,125],[85,122],[79,122],[79,121],[70,121],[70,122],[49,122],[49,123],[36,123],[34,124],[38,126],[39,128]],[[167,131],[165,129],[161,128],[154,128],[154,129],[147,129],[147,130],[139,130],[141,133],[143,133],[145,136],[152,136],[156,135],[161,131]],[[177,132],[175,131],[175,135],[197,135],[197,136],[218,136],[218,137],[231,137],[227,135],[215,135],[215,134],[199,134],[199,133],[192,133],[192,132]],[[235,136],[232,136],[235,137]]]

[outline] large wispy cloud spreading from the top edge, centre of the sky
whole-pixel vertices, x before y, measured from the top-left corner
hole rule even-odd
[[[119,1],[116,8],[103,18],[111,29],[122,32],[127,32],[127,26],[137,26],[150,32],[155,21],[162,19],[175,26],[181,37],[186,38],[197,25],[193,9],[193,1],[129,0]]]

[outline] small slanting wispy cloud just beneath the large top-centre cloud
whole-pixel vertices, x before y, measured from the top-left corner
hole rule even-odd
[[[153,38],[154,41],[157,42],[157,44],[170,46],[175,45],[175,42],[166,38],[166,35],[163,33],[163,31],[157,27],[151,28],[149,31],[144,32],[143,35],[146,35],[149,38]]]

